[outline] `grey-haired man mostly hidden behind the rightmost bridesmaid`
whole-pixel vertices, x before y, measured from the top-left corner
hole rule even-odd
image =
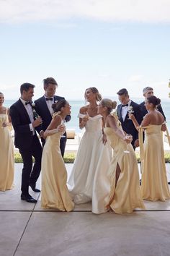
[[[153,96],[153,88],[151,87],[146,87],[143,89],[143,96],[146,98],[150,97],[150,96]],[[145,116],[146,114],[148,114],[148,111],[146,110],[146,105],[145,105],[145,101],[143,101],[142,103],[140,103],[140,106],[141,106],[141,109],[142,109],[142,115]],[[165,117],[165,114],[164,114],[164,111],[161,107],[161,104],[159,104],[157,106],[157,110],[159,112],[161,112],[161,114],[164,116],[164,119],[166,120],[166,117]]]

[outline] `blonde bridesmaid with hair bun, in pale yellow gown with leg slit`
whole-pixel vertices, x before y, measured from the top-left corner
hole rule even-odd
[[[132,137],[125,135],[116,114],[110,114],[116,105],[115,101],[103,99],[98,106],[98,113],[106,124],[104,133],[113,148],[108,171],[111,188],[106,207],[115,213],[132,213],[135,208],[145,209],[145,206],[140,195],[138,163],[130,143]]]

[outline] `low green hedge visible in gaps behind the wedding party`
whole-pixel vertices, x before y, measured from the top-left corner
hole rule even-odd
[[[139,153],[135,153],[138,163],[140,163],[140,156]],[[165,162],[170,163],[170,153],[164,153]],[[64,155],[64,162],[65,163],[73,163],[75,160],[76,154],[75,153],[66,153]],[[22,163],[22,158],[19,153],[14,153],[14,162],[15,163]]]

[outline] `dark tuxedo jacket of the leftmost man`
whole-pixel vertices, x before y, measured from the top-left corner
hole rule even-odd
[[[32,145],[33,135],[30,131],[30,117],[24,108],[22,101],[19,99],[9,108],[9,115],[12,118],[14,127],[14,145],[19,149],[27,149]],[[35,127],[40,132],[41,127]],[[35,136],[36,132],[35,132]]]

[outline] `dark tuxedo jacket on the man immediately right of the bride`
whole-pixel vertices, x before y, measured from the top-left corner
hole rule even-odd
[[[135,119],[138,121],[138,124],[140,124],[142,121],[142,113],[141,113],[140,105],[138,105],[134,101],[131,101],[130,106],[133,106],[133,111],[134,111],[133,114],[135,116]],[[121,111],[122,111],[122,104],[117,106],[117,116],[122,124],[122,129],[126,133],[130,133],[130,135],[133,135],[132,145],[134,148],[134,142],[135,142],[135,140],[138,139],[138,130],[135,129],[133,121],[128,119],[128,113],[126,114],[125,120],[123,121]]]

